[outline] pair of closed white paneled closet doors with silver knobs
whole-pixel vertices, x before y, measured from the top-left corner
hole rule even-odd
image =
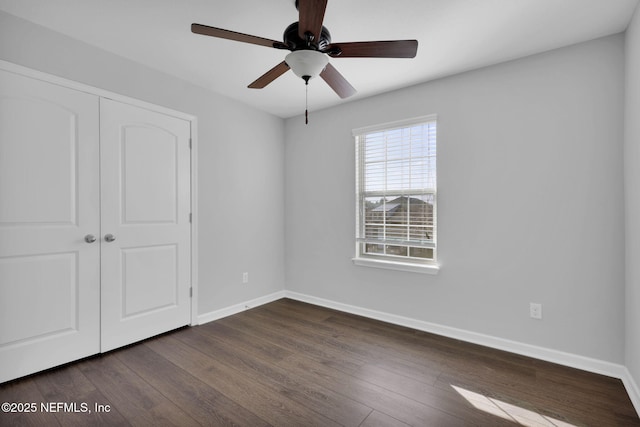
[[[0,383],[190,323],[190,136],[0,70]]]

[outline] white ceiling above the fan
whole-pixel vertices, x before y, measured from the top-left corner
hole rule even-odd
[[[358,90],[321,79],[310,110],[624,31],[638,0],[329,0],[333,42],[417,39],[414,59],[334,58]],[[297,21],[294,0],[0,0],[0,10],[286,118],[304,111],[288,72],[247,85],[287,51],[192,34],[193,22],[273,40]]]

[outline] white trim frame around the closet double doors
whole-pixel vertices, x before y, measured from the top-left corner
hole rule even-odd
[[[198,118],[146,101],[120,95],[0,59],[0,69],[186,120],[191,127],[191,326],[198,324]]]

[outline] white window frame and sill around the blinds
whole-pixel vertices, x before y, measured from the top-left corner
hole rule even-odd
[[[364,165],[362,160],[364,151],[361,146],[360,138],[363,138],[368,134],[372,134],[376,132],[392,131],[396,129],[403,129],[403,128],[422,125],[426,123],[435,123],[435,126],[436,126],[436,129],[435,129],[436,135],[435,135],[435,144],[434,144],[436,149],[435,150],[436,151],[436,155],[435,155],[436,177],[435,177],[435,184],[433,188],[422,187],[421,190],[416,193],[420,193],[422,195],[431,194],[433,197],[433,204],[432,204],[433,225],[432,225],[432,238],[430,239],[431,242],[421,242],[421,243],[413,242],[414,244],[412,245],[411,240],[398,241],[397,243],[399,243],[400,246],[402,245],[407,246],[408,252],[406,256],[405,255],[394,256],[389,254],[378,255],[378,254],[364,253],[364,250],[362,249],[363,245],[371,241],[371,239],[367,239],[365,236],[365,229],[364,229],[365,209],[363,207],[365,204],[365,200],[368,197],[383,197],[383,196],[394,197],[395,194],[402,194],[400,195],[400,197],[404,197],[404,196],[411,197],[410,193],[413,193],[413,192],[400,191],[398,193],[398,192],[386,191],[386,190],[385,191],[366,191],[365,190],[364,187],[366,185],[366,182],[364,179]],[[438,200],[438,197],[437,197],[438,196],[437,195],[437,157],[438,157],[437,156],[437,141],[438,141],[437,115],[431,114],[427,116],[414,117],[414,118],[399,120],[395,122],[388,122],[388,123],[382,123],[382,124],[373,125],[373,126],[357,128],[352,130],[352,135],[354,138],[355,155],[356,155],[355,157],[356,235],[355,235],[355,257],[352,259],[353,263],[355,265],[367,266],[367,267],[410,271],[410,272],[416,272],[416,273],[437,274],[440,268],[438,264],[438,254],[437,254],[437,247],[438,247],[437,245],[437,237],[438,237],[438,232],[437,232],[437,225],[438,225],[438,222],[437,222],[437,200]],[[410,159],[410,158],[411,157],[409,156],[409,157],[403,157],[402,159]],[[385,160],[385,164],[386,164],[386,160]],[[410,209],[411,201],[408,202],[408,205]],[[406,226],[410,227],[410,224],[406,224]],[[389,240],[384,240],[384,239],[383,241],[389,242]],[[377,242],[379,243],[379,241]],[[395,242],[391,240],[391,243],[395,243]],[[384,244],[387,246],[389,245],[389,243],[381,243],[381,244]],[[408,255],[410,253],[409,252],[410,247],[432,248],[433,257],[432,259],[425,259],[425,260],[409,257]]]

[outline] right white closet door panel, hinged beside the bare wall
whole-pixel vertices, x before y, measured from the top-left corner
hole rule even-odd
[[[104,352],[190,322],[191,128],[108,99],[100,113]]]

